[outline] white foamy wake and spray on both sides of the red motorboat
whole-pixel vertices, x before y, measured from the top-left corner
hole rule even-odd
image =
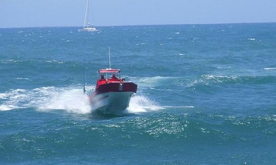
[[[0,93],[0,111],[28,107],[44,112],[60,109],[77,114],[91,113],[88,97],[83,95],[79,86],[16,89]],[[131,99],[126,113],[157,111],[162,108],[147,97],[136,95]]]

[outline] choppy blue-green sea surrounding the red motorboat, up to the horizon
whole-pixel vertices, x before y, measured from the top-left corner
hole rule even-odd
[[[276,23],[0,29],[0,163],[275,164]],[[96,71],[138,85],[91,113]]]

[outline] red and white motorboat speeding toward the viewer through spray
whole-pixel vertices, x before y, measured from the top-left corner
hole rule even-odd
[[[128,108],[131,97],[136,94],[137,85],[121,77],[120,69],[98,70],[97,85],[88,93],[91,109],[103,114],[122,114]],[[83,87],[84,92],[85,87]]]

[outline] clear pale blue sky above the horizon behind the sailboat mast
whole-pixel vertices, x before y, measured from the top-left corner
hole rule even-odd
[[[94,24],[276,22],[275,0],[91,0]],[[0,28],[82,26],[86,0],[0,0]]]

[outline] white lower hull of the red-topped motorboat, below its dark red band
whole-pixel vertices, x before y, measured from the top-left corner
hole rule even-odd
[[[91,108],[104,114],[120,114],[129,106],[134,92],[106,92],[90,98]]]

